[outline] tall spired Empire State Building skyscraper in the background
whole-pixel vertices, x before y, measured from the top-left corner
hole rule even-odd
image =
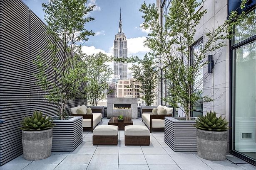
[[[121,9],[119,31],[114,38],[114,57],[127,58],[127,40],[122,30]],[[114,79],[127,79],[127,63],[114,61]]]

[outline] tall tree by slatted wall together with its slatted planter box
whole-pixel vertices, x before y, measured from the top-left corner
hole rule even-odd
[[[49,105],[56,108],[52,117],[52,151],[74,151],[83,138],[82,117],[69,117],[70,106],[82,105],[82,88],[90,56],[82,52],[82,41],[94,32],[85,29],[94,18],[87,16],[95,5],[86,0],[54,1],[43,3],[47,24],[47,52],[42,51],[34,61],[36,85]],[[80,97],[79,100],[77,98]],[[70,100],[73,100],[71,103]],[[75,102],[76,101],[76,102]],[[73,105],[74,106],[74,105]]]

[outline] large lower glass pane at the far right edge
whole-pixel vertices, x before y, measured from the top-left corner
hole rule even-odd
[[[256,53],[255,41],[234,51],[234,149],[255,160]]]

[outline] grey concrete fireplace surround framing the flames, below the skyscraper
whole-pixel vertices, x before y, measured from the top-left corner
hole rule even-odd
[[[114,104],[131,104],[131,109],[114,109]],[[137,98],[108,98],[107,99],[107,118],[118,117],[122,114],[124,117],[138,118],[138,99]]]

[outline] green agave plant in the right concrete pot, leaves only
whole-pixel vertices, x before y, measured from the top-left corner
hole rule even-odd
[[[198,129],[202,129],[205,131],[226,131],[229,129],[229,122],[226,119],[222,119],[220,116],[219,118],[216,117],[215,112],[206,112],[205,116],[198,117],[196,120],[196,125],[194,125]]]

